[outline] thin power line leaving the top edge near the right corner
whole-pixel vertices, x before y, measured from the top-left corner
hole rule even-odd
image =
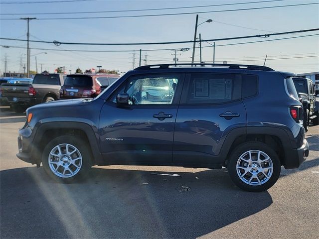
[[[172,9],[186,9],[186,8],[199,8],[199,7],[212,7],[212,6],[229,6],[229,5],[241,5],[251,3],[263,3],[274,1],[287,1],[287,0],[265,0],[265,1],[251,1],[251,2],[237,2],[226,4],[214,4],[214,5],[199,5],[199,6],[181,6],[181,7],[164,7],[164,8],[149,8],[149,9],[130,9],[130,10],[109,10],[109,11],[70,11],[70,12],[37,12],[37,13],[1,13],[0,15],[51,15],[51,14],[88,14],[88,13],[110,13],[110,12],[131,12],[131,11],[155,11],[155,10],[172,10]]]

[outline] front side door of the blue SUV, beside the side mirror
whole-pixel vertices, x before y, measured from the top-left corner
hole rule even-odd
[[[124,84],[132,84],[134,80],[131,79],[134,78],[127,79]],[[183,78],[183,74],[178,74],[177,89],[170,104],[167,103],[169,97],[166,95],[166,86],[151,89],[144,84],[140,87],[142,92],[134,95],[141,104],[132,103],[133,105],[125,108],[119,108],[114,102],[114,96],[111,96],[102,107],[99,123],[100,148],[105,162],[171,163],[174,126]],[[120,86],[114,95],[122,92],[133,94],[131,88]],[[162,88],[164,96],[160,96]],[[161,104],[163,102],[165,104]],[[165,114],[165,118],[161,114]]]

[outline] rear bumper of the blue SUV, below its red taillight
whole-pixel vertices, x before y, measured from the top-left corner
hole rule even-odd
[[[303,145],[297,149],[286,150],[286,160],[284,167],[286,169],[299,168],[300,165],[305,162],[309,155],[309,144],[304,139]]]

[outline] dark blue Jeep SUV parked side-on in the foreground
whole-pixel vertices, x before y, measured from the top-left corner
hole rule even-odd
[[[260,192],[281,166],[308,157],[303,106],[292,74],[251,65],[143,66],[95,99],[27,109],[17,157],[61,182],[92,165],[170,165],[220,169]]]

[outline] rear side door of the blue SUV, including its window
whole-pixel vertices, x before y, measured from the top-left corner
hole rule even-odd
[[[222,77],[200,73],[186,76],[175,123],[173,162],[214,164],[212,159],[220,153],[227,134],[234,128],[247,126],[240,77],[230,74]],[[227,91],[232,96],[226,96]],[[217,95],[226,100],[218,103],[218,99],[213,99]],[[193,102],[187,100],[189,97],[194,98]]]

